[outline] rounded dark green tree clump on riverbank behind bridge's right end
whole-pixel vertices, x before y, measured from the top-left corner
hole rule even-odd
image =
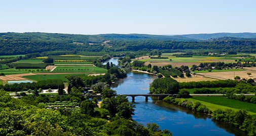
[[[176,94],[178,82],[172,78],[156,79],[150,85],[151,94]]]

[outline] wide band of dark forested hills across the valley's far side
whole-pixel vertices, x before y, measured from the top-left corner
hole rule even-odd
[[[170,37],[170,36],[169,36]],[[74,53],[138,51],[161,49],[205,50],[220,52],[256,52],[256,40],[230,38],[225,40],[188,40],[155,35],[74,35],[56,33],[0,33],[0,55],[27,54],[45,51]]]

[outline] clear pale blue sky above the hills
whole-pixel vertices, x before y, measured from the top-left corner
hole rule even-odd
[[[256,1],[1,0],[0,32],[256,32]]]

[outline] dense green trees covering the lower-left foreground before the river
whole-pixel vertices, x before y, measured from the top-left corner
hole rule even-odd
[[[144,127],[131,120],[134,109],[123,97],[105,98],[105,108],[98,108],[95,99],[89,101],[84,97],[77,100],[79,107],[72,110],[46,109],[43,104],[70,101],[77,91],[79,89],[74,88],[72,94],[62,97],[40,95],[15,99],[0,90],[0,135],[171,135],[167,130],[160,130],[156,124]],[[107,108],[112,104],[118,104],[116,112]]]

